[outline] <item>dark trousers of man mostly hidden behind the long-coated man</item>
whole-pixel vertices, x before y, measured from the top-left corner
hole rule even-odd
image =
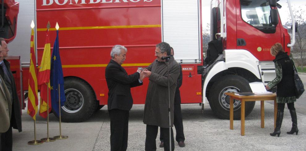
[[[173,125],[174,125],[175,131],[176,131],[175,140],[177,142],[185,141],[184,127],[183,127],[183,118],[182,118],[182,113],[181,113],[181,101],[179,103],[175,103],[174,102]],[[164,141],[162,135],[160,135],[159,140],[161,142]]]

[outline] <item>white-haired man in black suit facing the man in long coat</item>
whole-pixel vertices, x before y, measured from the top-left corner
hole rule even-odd
[[[141,70],[128,75],[121,64],[125,61],[127,49],[121,45],[113,46],[112,59],[105,69],[108,86],[108,113],[110,117],[111,151],[127,149],[129,110],[133,105],[131,87],[142,85]]]

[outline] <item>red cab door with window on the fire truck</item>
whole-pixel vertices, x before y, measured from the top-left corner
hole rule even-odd
[[[272,25],[267,0],[245,1],[237,3],[237,49],[251,52],[259,61],[271,61],[273,44],[281,42],[280,25]]]

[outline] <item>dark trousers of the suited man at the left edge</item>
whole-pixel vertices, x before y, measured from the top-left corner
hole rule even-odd
[[[12,127],[5,132],[0,133],[1,134],[1,151],[11,151],[13,148],[13,131]]]

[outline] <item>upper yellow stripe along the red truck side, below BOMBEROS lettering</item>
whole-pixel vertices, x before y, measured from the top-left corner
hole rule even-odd
[[[59,30],[88,30],[88,29],[113,29],[113,28],[154,28],[161,25],[125,25],[125,26],[88,26],[88,27],[60,27]],[[37,28],[37,31],[46,31],[47,28]],[[50,31],[56,30],[50,28]]]

